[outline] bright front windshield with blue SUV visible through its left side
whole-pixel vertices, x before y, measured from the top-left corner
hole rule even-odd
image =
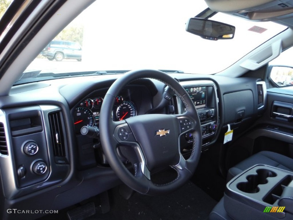
[[[44,48],[23,78],[145,68],[214,74],[286,28],[217,13],[211,19],[235,26],[235,36],[205,40],[186,32],[185,23],[206,8],[194,0],[96,1]]]

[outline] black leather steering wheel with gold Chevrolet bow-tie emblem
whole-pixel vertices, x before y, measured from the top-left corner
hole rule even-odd
[[[141,78],[157,79],[168,85],[184,103],[183,114],[145,114],[113,121],[112,110],[121,88]],[[200,119],[185,89],[172,77],[158,70],[130,71],[109,88],[100,111],[100,141],[108,163],[117,176],[141,194],[158,195],[184,185],[197,166],[202,143]],[[188,160],[180,153],[180,136],[190,132],[193,148]],[[119,148],[118,148],[119,146]],[[134,174],[120,160],[120,154],[134,165]],[[171,166],[177,177],[166,184],[151,181],[151,171]]]

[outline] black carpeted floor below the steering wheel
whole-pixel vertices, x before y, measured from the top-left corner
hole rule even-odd
[[[207,219],[216,205],[209,197],[192,182],[165,196],[144,196],[135,193],[125,200],[115,193],[111,210],[105,214],[96,214],[88,220],[178,220]]]

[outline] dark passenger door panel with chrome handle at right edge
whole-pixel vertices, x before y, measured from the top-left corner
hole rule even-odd
[[[267,108],[246,137],[254,140],[253,152],[270,150],[291,156],[293,144],[293,90],[267,89]]]

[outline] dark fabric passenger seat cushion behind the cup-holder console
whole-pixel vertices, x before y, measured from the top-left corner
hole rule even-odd
[[[256,164],[265,164],[293,172],[293,159],[271,151],[261,151],[229,169],[227,181]]]

